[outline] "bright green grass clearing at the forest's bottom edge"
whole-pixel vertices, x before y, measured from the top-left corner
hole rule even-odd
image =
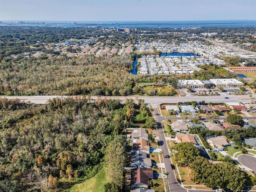
[[[93,178],[80,184],[75,184],[69,192],[95,192],[104,191],[104,184],[107,182],[105,168],[102,168]]]

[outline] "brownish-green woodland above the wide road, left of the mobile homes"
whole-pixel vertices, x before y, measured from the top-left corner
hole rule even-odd
[[[130,56],[23,58],[2,62],[0,95],[106,95],[134,92]],[[140,90],[139,90],[140,91]]]

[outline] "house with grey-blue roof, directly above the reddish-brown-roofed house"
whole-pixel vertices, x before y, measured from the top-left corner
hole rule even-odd
[[[132,166],[152,167],[152,160],[149,158],[149,155],[140,150],[132,151],[131,163]]]

